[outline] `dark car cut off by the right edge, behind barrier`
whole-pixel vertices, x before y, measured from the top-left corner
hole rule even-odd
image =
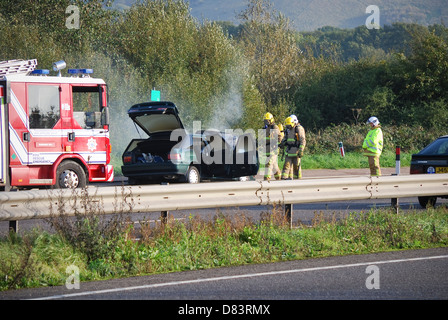
[[[448,173],[448,135],[439,137],[431,142],[411,158],[411,174],[437,174]],[[418,202],[424,208],[434,206],[437,197],[448,198],[444,196],[418,197]]]

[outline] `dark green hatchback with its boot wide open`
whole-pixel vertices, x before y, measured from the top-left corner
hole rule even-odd
[[[190,134],[172,102],[136,104],[128,115],[148,135],[133,139],[123,153],[121,171],[130,184],[243,180],[258,172],[256,141],[251,134],[214,130]]]

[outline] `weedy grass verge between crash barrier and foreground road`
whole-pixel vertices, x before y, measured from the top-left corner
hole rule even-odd
[[[281,212],[274,207],[257,223],[241,213],[218,213],[207,221],[190,216],[182,223],[142,222],[138,230],[123,221],[120,232],[107,235],[99,233],[103,224],[89,213],[55,234],[10,234],[0,239],[0,289],[64,285],[73,265],[81,281],[90,281],[448,244],[445,206],[406,214],[371,210],[338,219],[316,213],[311,225],[292,229]]]

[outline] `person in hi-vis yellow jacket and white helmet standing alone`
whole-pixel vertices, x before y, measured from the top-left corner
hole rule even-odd
[[[367,124],[371,129],[362,144],[363,154],[369,160],[370,175],[381,176],[380,156],[383,152],[383,131],[377,117],[370,117]]]

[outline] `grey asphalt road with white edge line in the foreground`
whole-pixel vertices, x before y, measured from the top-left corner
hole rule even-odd
[[[292,308],[286,304],[276,311],[272,301],[281,300],[446,300],[448,248],[83,282],[79,289],[60,286],[0,292],[0,299],[169,300],[171,307],[164,316],[176,316],[179,308],[190,303],[213,306],[210,316],[215,318],[229,311],[223,305],[272,305],[271,315]]]

